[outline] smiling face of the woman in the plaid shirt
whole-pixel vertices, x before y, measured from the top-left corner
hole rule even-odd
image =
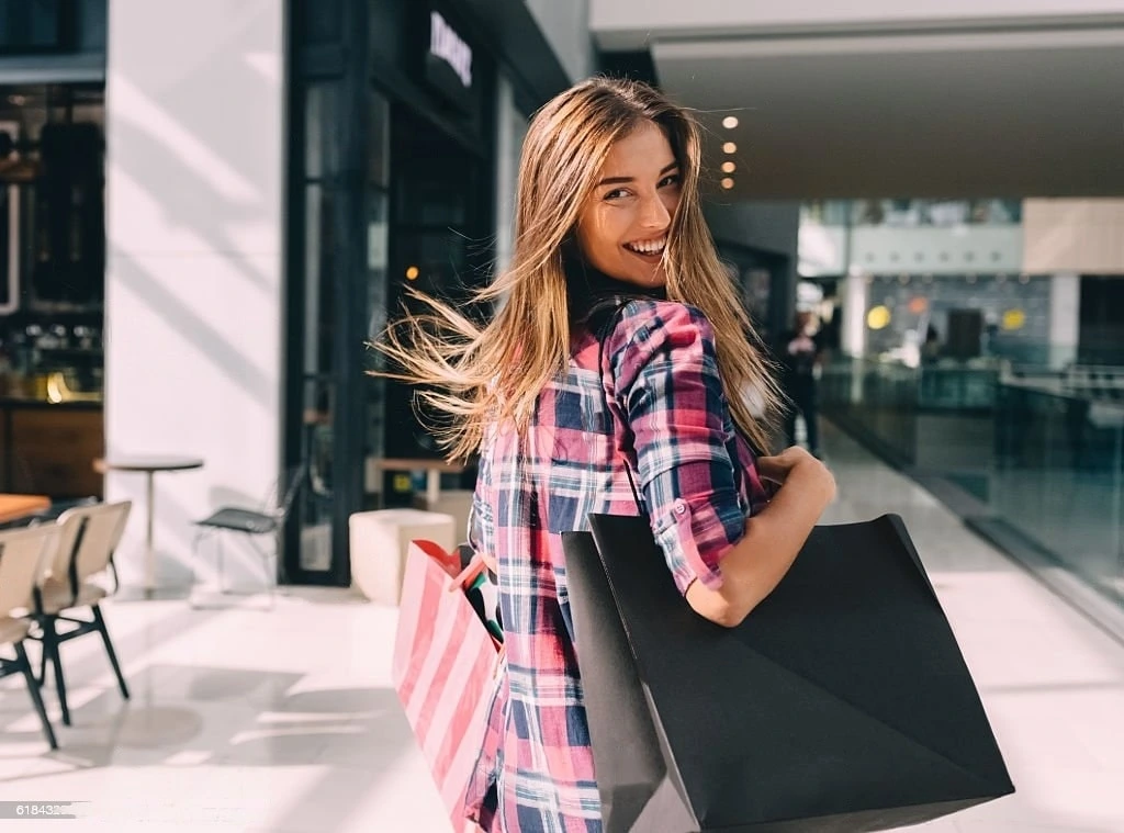
[[[578,243],[610,278],[662,287],[663,250],[679,206],[679,164],[667,136],[649,121],[613,145],[578,218]]]

